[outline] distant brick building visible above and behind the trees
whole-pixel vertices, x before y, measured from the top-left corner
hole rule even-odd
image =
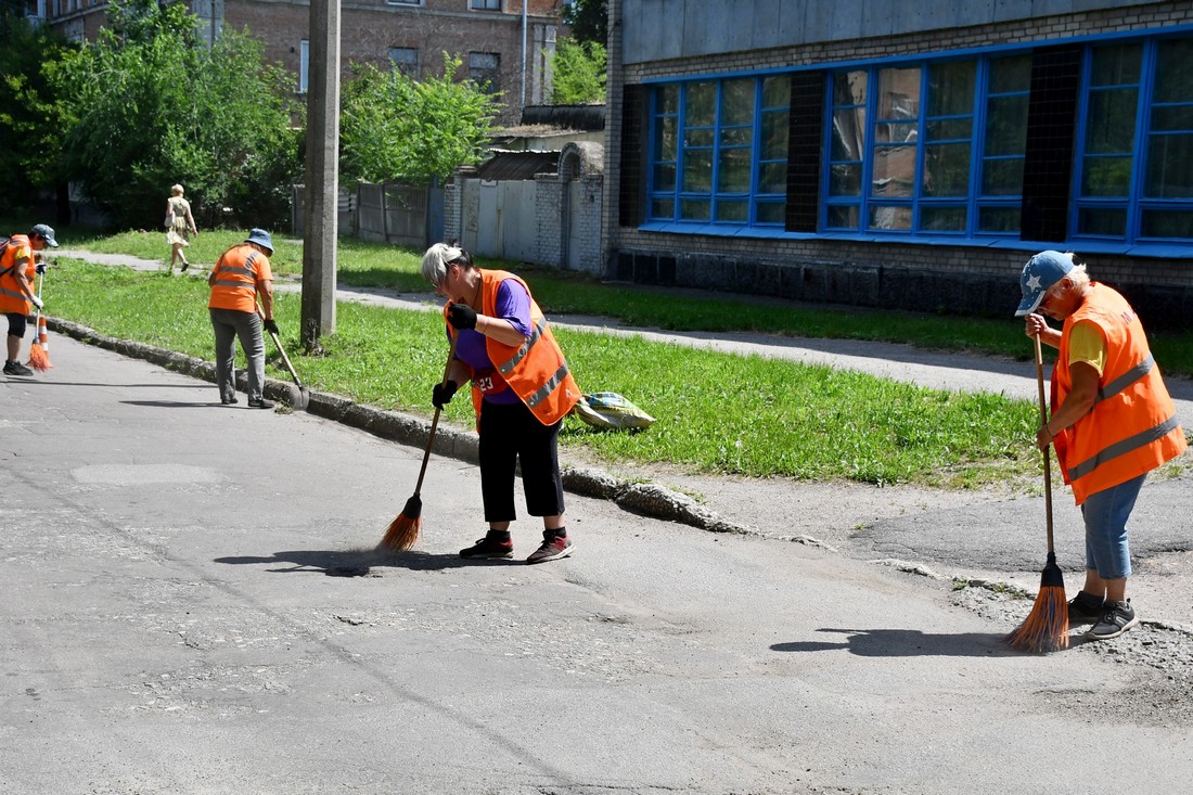
[[[293,73],[307,88],[310,6],[304,0],[190,0],[214,41],[223,29],[243,30],[265,43],[265,57]],[[524,105],[550,92],[549,61],[564,0],[350,0],[340,6],[340,55],[348,62],[392,62],[412,76],[439,74],[443,54],[502,92],[502,124],[517,123]],[[73,39],[94,39],[104,24],[101,0],[37,0],[37,16]]]

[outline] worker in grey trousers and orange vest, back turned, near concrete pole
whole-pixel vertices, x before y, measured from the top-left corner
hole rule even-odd
[[[273,239],[265,229],[253,229],[248,239],[233,246],[216,261],[208,276],[211,298],[211,327],[216,335],[216,384],[220,402],[224,406],[236,402],[236,338],[248,359],[248,407],[273,408],[273,401],[264,396],[265,388],[265,337],[261,328],[278,333],[273,320]],[[256,301],[260,297],[261,310]]]

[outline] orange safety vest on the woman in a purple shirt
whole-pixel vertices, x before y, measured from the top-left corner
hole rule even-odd
[[[519,277],[506,271],[481,270],[481,314],[495,316],[497,310],[497,288],[506,279],[514,279],[530,295],[530,288]],[[447,307],[444,307],[444,320],[447,319]],[[571,407],[580,401],[580,387],[576,386],[563,351],[555,341],[543,310],[538,308],[534,297],[530,298],[530,338],[519,346],[505,345],[492,337],[484,338],[484,347],[489,360],[501,377],[506,380],[514,394],[538,418],[543,425],[555,425],[567,417]],[[447,323],[452,335],[456,329]],[[472,408],[481,419],[483,394],[472,383]]]

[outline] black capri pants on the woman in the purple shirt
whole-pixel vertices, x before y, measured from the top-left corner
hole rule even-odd
[[[486,522],[513,522],[514,475],[521,462],[523,491],[531,516],[563,513],[558,439],[563,420],[543,425],[521,402],[481,409],[478,454]]]

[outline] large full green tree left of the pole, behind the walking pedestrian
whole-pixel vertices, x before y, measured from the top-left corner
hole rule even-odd
[[[301,173],[292,78],[247,32],[206,47],[197,26],[183,4],[116,0],[98,39],[54,70],[70,178],[123,227],[159,223],[173,183],[200,223],[278,226]]]

